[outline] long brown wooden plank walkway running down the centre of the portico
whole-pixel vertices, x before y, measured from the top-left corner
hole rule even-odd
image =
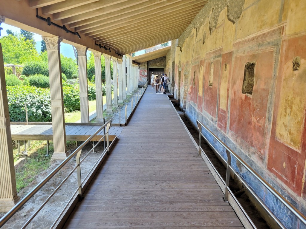
[[[64,228],[243,226],[166,95],[147,88]]]

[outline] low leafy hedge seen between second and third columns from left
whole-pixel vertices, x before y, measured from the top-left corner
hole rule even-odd
[[[80,90],[73,86],[63,86],[64,108],[66,112],[80,110]]]

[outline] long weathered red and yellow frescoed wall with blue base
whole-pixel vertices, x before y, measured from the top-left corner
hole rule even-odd
[[[176,96],[193,125],[210,126],[306,212],[306,2],[226,4],[210,1],[173,47]],[[300,227],[254,177],[237,171],[288,228]]]

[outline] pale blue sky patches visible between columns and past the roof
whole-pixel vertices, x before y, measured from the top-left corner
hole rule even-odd
[[[1,27],[3,28],[3,30],[1,30],[1,36],[6,36],[7,35],[6,34],[7,29],[12,30],[13,32],[20,33],[20,28],[17,28],[17,27],[14,27],[14,26],[11,26],[11,25],[8,25],[8,24],[5,24],[5,23],[2,23]],[[41,49],[40,41],[42,40],[41,35],[38,35],[38,34],[34,33],[34,40],[36,42],[36,49],[40,53],[40,49]],[[136,52],[136,56],[144,54],[144,51],[145,50],[141,50],[139,52]],[[71,57],[73,59],[75,58],[74,53],[73,53],[73,49],[72,49],[72,45],[65,44],[65,43],[62,42],[60,52],[64,56]],[[90,52],[88,51],[87,56],[89,55],[89,53]]]

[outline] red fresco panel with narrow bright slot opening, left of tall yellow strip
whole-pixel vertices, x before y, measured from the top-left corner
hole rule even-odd
[[[214,74],[213,74],[212,86],[208,86],[211,61],[206,60],[205,63],[203,109],[212,117],[217,118],[216,112],[217,112],[218,83],[220,75],[220,59],[213,60],[213,63],[214,63]]]

